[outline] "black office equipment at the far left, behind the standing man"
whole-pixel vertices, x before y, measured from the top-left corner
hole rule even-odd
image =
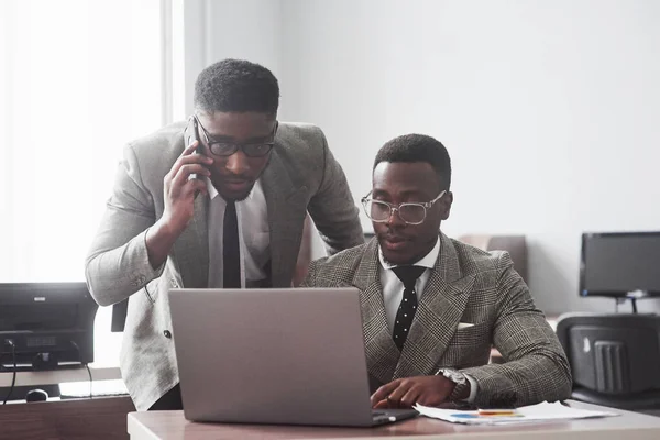
[[[0,365],[11,371],[14,352],[19,370],[94,362],[97,309],[85,283],[0,284]]]

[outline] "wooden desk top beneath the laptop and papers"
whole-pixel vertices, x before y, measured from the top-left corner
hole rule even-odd
[[[604,409],[590,404],[569,400],[585,409]],[[419,417],[380,428],[326,428],[272,425],[195,424],[184,418],[183,411],[130,413],[129,435],[132,440],[221,440],[221,439],[440,439],[440,440],[658,440],[660,418],[622,411],[618,417],[534,424],[516,427],[477,427],[452,425]]]

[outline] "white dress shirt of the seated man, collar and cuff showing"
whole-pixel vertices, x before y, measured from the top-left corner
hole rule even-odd
[[[424,294],[424,289],[429,280],[431,271],[436,266],[436,261],[438,260],[439,254],[440,240],[436,240],[436,245],[433,246],[433,249],[417,263],[413,264],[414,266],[426,267],[426,271],[424,271],[424,273],[415,282],[415,293],[417,294],[417,302],[421,301],[421,295]],[[396,312],[404,297],[404,283],[398,278],[398,276],[396,276],[396,274],[392,270],[393,267],[396,267],[397,264],[391,264],[387,261],[385,261],[381,248],[378,248],[378,260],[381,261],[381,266],[378,267],[378,275],[381,276],[381,284],[383,285],[383,301],[385,302],[387,328],[389,329],[389,333],[392,334],[394,332],[394,321],[396,320]],[[465,402],[471,404],[476,397],[476,381],[474,381],[474,378],[472,378],[468,374],[465,374],[465,378],[468,378],[468,381],[470,382],[470,396],[465,399]]]

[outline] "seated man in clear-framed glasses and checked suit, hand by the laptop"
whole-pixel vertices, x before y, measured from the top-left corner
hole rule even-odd
[[[312,262],[304,284],[360,289],[375,408],[568,398],[565,354],[509,255],[439,232],[450,182],[449,154],[433,138],[387,142],[362,199],[376,237]],[[504,364],[488,364],[492,344]]]

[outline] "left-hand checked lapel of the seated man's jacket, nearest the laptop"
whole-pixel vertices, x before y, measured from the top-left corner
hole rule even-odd
[[[353,285],[360,289],[367,370],[372,376],[386,384],[392,381],[399,351],[387,327],[378,264],[378,242],[374,238],[366,245]]]

